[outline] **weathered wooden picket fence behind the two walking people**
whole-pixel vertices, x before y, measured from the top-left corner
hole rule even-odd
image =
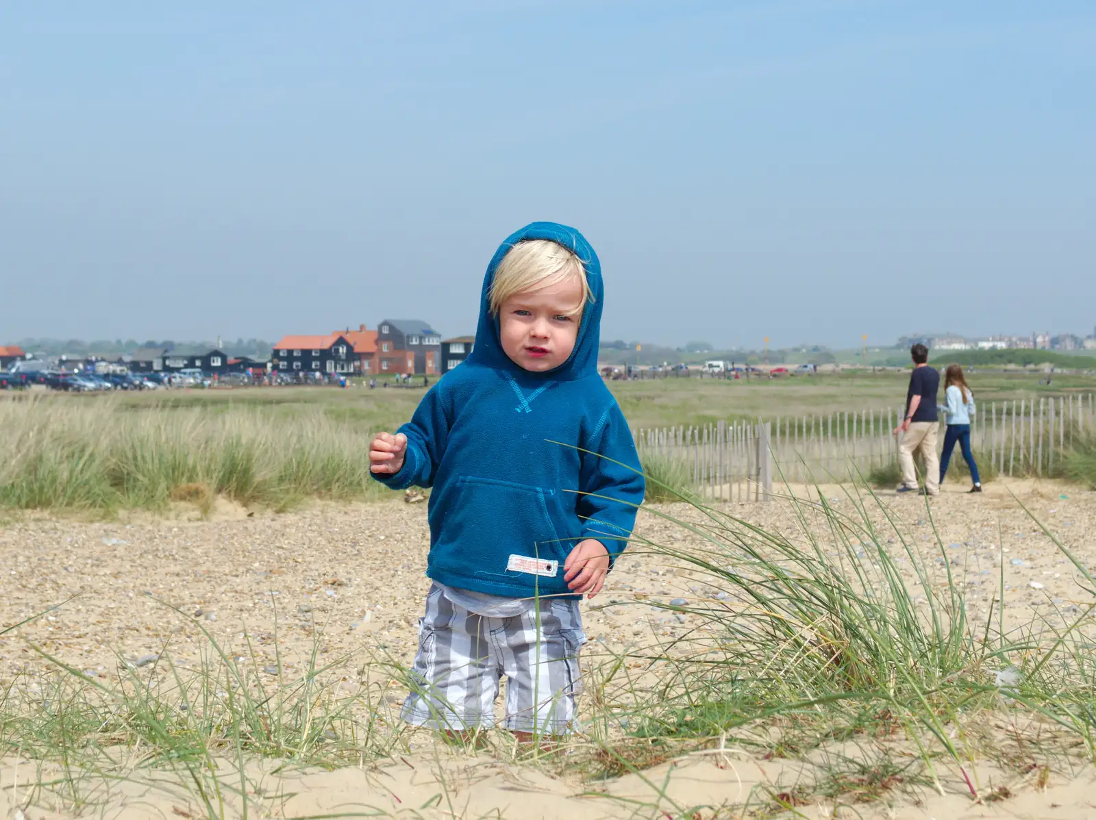
[[[1096,394],[978,403],[971,419],[975,459],[1001,475],[1053,475],[1078,435],[1096,434]],[[720,420],[633,430],[641,461],[675,462],[701,495],[764,500],[777,485],[844,482],[897,459],[892,430],[903,409],[863,409]],[[941,423],[943,424],[943,423]],[[943,444],[943,431],[939,436]],[[959,459],[958,448],[952,461]]]

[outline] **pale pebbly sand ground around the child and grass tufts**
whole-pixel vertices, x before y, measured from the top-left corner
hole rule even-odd
[[[847,495],[855,489],[821,489],[834,509],[855,515],[855,501]],[[926,565],[937,576],[945,577],[949,568],[963,585],[968,616],[975,626],[991,613],[1002,564],[1006,622],[1027,623],[1035,613],[1048,625],[1062,624],[1092,602],[1075,568],[1039,522],[1085,566],[1096,569],[1092,536],[1096,493],[1047,482],[995,483],[981,496],[962,489],[947,485],[932,501],[931,512],[923,498],[880,494],[887,515],[875,499],[867,499],[869,515],[879,523],[880,543],[892,544],[887,548],[895,554],[904,548],[895,528],[887,530],[890,516],[900,522],[906,544],[924,551]],[[796,492],[817,497],[808,488]],[[643,512],[638,531],[652,542],[685,544],[688,532],[657,515],[682,511],[683,506],[666,505]],[[789,538],[799,528],[787,499],[734,505],[728,511]],[[393,500],[318,505],[286,515],[249,515],[222,504],[208,520],[185,508],[169,519],[10,520],[0,529],[0,628],[64,604],[0,637],[0,684],[34,691],[56,673],[43,654],[103,684],[163,674],[160,657],[170,656],[180,669],[196,669],[203,658],[208,660],[208,634],[226,652],[248,657],[271,681],[279,674],[293,677],[310,663],[338,662],[343,671],[335,686],[352,692],[379,683],[389,692],[384,703],[395,711],[403,691],[391,680],[378,681],[375,669],[365,670],[378,657],[402,665],[413,658],[416,619],[429,587],[423,575],[429,543],[425,513],[424,504]],[[917,586],[912,570],[907,580]],[[695,627],[696,615],[660,604],[687,609],[721,600],[719,596],[720,590],[695,573],[636,544],[618,562],[605,591],[584,603],[590,638],[584,667],[596,668],[606,658],[665,644]],[[996,623],[1000,613],[993,617]],[[652,817],[737,817],[757,784],[778,784],[809,767],[803,762],[752,760],[735,749],[690,754],[641,774],[591,784],[515,763],[505,750],[495,749],[487,758],[454,752],[437,747],[425,732],[414,734],[409,742],[398,760],[334,772],[275,772],[269,761],[248,765],[260,766],[256,776],[269,784],[263,805],[271,817],[361,811],[365,806],[376,809],[377,816],[410,817],[419,816],[408,813],[411,807],[419,811],[430,804],[421,816],[482,817],[498,809],[501,817],[528,820],[564,813],[591,819],[647,817],[637,813],[636,806],[652,800],[665,812]],[[4,761],[0,817],[13,816],[20,805],[16,782],[25,784],[32,774],[48,775],[52,765],[35,773],[33,762]],[[1096,817],[1091,766],[1054,771],[1038,784],[1030,775],[990,764],[978,771],[982,782],[1007,784],[1007,799],[974,804],[964,789],[952,789],[952,783],[943,796],[933,793],[877,806],[878,816]],[[110,794],[111,810],[102,816],[201,816],[193,796],[178,783],[172,785],[173,776],[146,770],[126,783],[104,781],[100,794]],[[663,788],[664,783],[670,785]],[[443,797],[432,797],[437,795]],[[49,811],[47,802],[25,816],[82,816],[64,807]],[[101,816],[102,802],[91,800],[89,806],[93,804],[99,808],[89,809],[87,816]],[[689,806],[708,808],[683,813]],[[726,808],[711,808],[719,806]],[[834,815],[830,806],[812,802],[798,810],[807,817],[846,816]],[[868,817],[876,809],[857,810]]]

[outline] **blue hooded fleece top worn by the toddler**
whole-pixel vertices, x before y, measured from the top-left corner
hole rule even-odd
[[[489,293],[523,240],[558,242],[583,261],[587,302],[574,350],[543,373],[502,349]],[[530,598],[568,594],[563,562],[583,539],[616,559],[643,500],[631,431],[597,373],[604,304],[594,249],[573,228],[533,222],[506,238],[483,277],[471,355],[423,397],[409,424],[403,466],[374,474],[393,489],[433,487],[426,575],[450,587]]]

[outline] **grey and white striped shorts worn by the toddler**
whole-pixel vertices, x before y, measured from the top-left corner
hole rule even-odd
[[[419,621],[414,689],[402,718],[434,729],[490,728],[505,675],[505,728],[563,735],[578,711],[585,640],[576,600],[546,598],[521,615],[484,617],[449,601],[435,584]]]

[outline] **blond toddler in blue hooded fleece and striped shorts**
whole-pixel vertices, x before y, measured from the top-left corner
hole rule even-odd
[[[597,374],[603,296],[574,229],[509,236],[483,278],[470,356],[410,424],[373,440],[374,477],[433,487],[408,723],[491,727],[505,675],[505,728],[523,740],[571,730],[579,601],[602,589],[643,500],[631,432]]]

